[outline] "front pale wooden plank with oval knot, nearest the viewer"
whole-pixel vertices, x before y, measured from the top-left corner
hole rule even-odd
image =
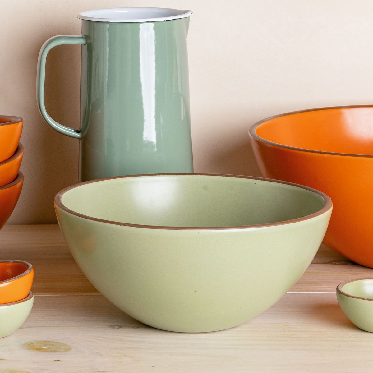
[[[287,294],[243,325],[189,334],[145,326],[101,295],[66,295],[37,296],[0,345],[0,372],[370,373],[373,338],[334,294]]]

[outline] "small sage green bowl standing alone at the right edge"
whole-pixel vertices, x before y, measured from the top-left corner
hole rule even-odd
[[[344,314],[358,328],[373,333],[373,279],[356,279],[340,283],[336,289]]]

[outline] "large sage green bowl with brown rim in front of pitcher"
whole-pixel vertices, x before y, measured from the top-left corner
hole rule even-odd
[[[232,175],[123,176],[56,195],[57,219],[91,283],[164,330],[239,325],[307,269],[332,212],[304,186]]]

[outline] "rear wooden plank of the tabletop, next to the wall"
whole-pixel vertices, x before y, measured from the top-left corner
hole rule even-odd
[[[35,294],[97,293],[73,260],[57,225],[6,225],[0,231],[0,247],[1,260],[33,264]],[[334,291],[342,281],[361,277],[373,277],[373,270],[322,245],[290,291]]]

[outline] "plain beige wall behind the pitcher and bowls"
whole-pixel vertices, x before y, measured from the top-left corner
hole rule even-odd
[[[1,0],[0,113],[25,120],[25,184],[9,223],[55,222],[53,197],[77,181],[78,140],[57,134],[35,100],[38,51],[79,34],[76,14],[103,7],[192,9],[189,73],[196,172],[258,175],[248,127],[310,107],[373,98],[371,0]],[[78,126],[79,47],[47,64],[47,109]]]

